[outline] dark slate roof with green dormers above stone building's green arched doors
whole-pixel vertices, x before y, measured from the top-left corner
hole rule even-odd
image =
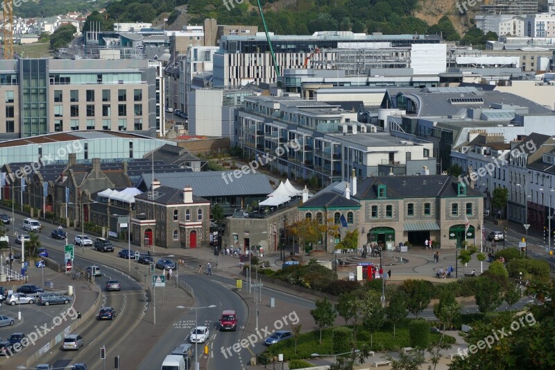
[[[377,176],[357,184],[355,199],[378,199],[377,185],[386,185],[387,199],[443,198],[457,196],[456,178],[451,175]],[[483,197],[479,190],[466,187],[466,196]]]

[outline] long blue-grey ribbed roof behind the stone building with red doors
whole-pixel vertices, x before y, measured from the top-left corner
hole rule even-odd
[[[242,174],[233,176],[234,171],[184,172],[176,174],[155,173],[154,177],[164,186],[182,190],[187,185],[194,194],[204,197],[212,196],[249,196],[267,195],[273,192],[268,177],[264,174]],[[137,184],[151,188],[152,174],[143,174]]]

